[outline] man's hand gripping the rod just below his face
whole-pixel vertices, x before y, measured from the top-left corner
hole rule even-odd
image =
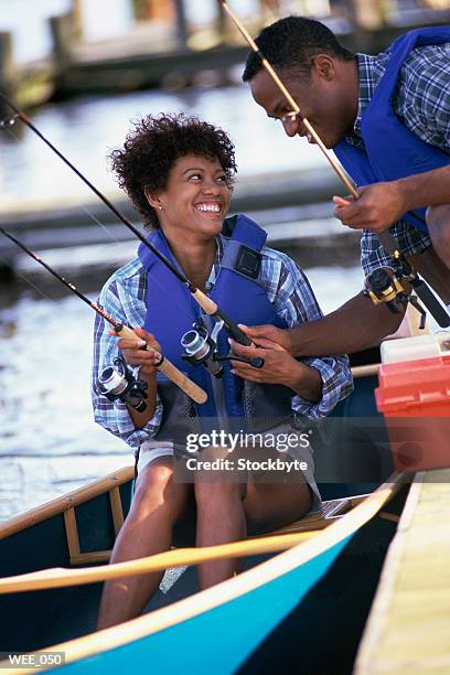
[[[358,189],[360,197],[334,196],[334,215],[352,229],[371,229],[382,233],[388,229],[408,211],[398,181],[374,183]]]

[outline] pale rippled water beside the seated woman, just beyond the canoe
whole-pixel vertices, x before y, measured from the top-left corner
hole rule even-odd
[[[362,272],[322,267],[308,276],[329,312],[354,294]],[[0,519],[132,462],[130,449],[93,421],[93,321],[74,296],[52,300],[30,289],[1,300]]]

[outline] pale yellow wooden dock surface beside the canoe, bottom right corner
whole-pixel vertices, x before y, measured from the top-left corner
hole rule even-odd
[[[450,672],[450,469],[416,476],[390,545],[355,675]]]

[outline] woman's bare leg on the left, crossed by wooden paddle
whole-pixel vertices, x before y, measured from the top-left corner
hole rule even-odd
[[[174,482],[172,462],[172,457],[163,457],[142,469],[110,562],[132,560],[170,548],[173,525],[185,510],[191,490],[188,484]],[[97,629],[138,617],[161,578],[162,572],[153,572],[106,581]]]

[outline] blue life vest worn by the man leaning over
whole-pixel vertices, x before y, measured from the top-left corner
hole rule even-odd
[[[400,35],[390,45],[386,71],[362,117],[365,151],[345,139],[333,148],[340,162],[358,185],[394,181],[424,173],[450,162],[449,154],[422,141],[395,114],[392,97],[398,74],[408,54],[416,47],[450,42],[450,28],[426,28]],[[401,216],[409,224],[428,232],[426,207]]]

